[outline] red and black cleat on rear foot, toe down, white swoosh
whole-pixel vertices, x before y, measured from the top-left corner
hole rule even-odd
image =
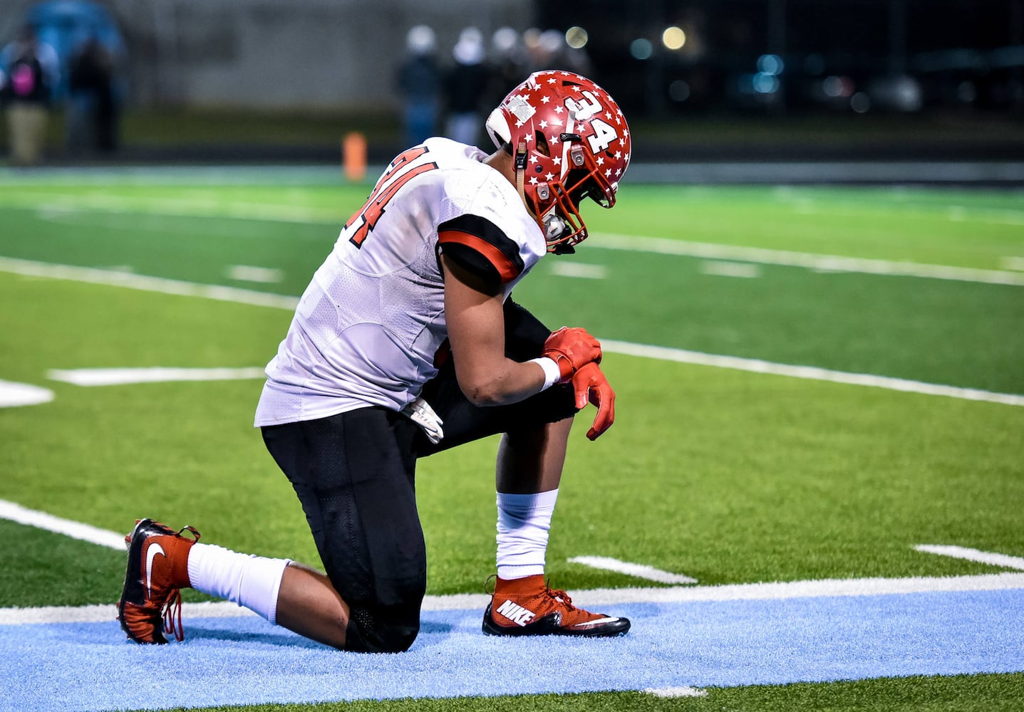
[[[193,539],[181,536],[188,531]],[[184,638],[181,628],[181,588],[187,588],[188,549],[199,541],[191,527],[178,531],[153,520],[139,520],[128,542],[128,568],[118,602],[118,620],[136,642],[164,643],[164,633]]]

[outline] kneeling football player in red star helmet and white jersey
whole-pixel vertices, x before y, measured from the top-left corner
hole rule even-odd
[[[567,72],[531,75],[486,128],[489,155],[431,138],[391,162],[266,367],[256,426],[326,575],[141,520],[119,603],[128,637],[181,639],[179,589],[191,586],[339,649],[407,650],[427,580],[417,458],[494,434],[498,569],[483,632],[629,630],[544,576],[573,415],[597,407],[591,440],[614,420],[600,344],[583,328],[552,332],[510,295],[542,257],[587,237],[585,198],[614,205],[630,132],[607,92]]]

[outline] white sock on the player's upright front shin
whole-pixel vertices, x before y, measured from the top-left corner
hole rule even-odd
[[[544,573],[548,530],[558,490],[498,493],[498,576],[509,580]]]

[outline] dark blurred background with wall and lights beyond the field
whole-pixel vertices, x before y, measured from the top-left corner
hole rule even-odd
[[[55,56],[42,164],[337,163],[351,132],[385,162],[417,119],[485,146],[486,113],[535,69],[608,89],[642,161],[1024,160],[1024,0],[0,8],[8,112],[25,27]]]

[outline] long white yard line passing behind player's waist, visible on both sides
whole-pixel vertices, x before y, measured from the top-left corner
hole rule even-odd
[[[125,286],[133,290],[144,290],[147,292],[160,292],[164,294],[183,295],[188,297],[203,297],[206,299],[237,302],[240,304],[251,304],[260,307],[272,307],[289,311],[294,310],[299,303],[297,297],[270,295],[264,292],[240,290],[232,286],[196,284],[175,279],[146,277],[136,274],[125,274],[123,272],[93,269],[89,267],[52,265],[43,262],[14,260],[6,257],[0,257],[0,271],[38,277],[50,277],[53,279],[72,279],[97,284]],[[1022,283],[1024,283],[1024,274],[1021,274],[1020,277]],[[644,344],[631,344],[629,342],[602,340],[601,346],[609,353],[640,356],[643,358],[654,358],[665,361],[676,361],[678,363],[692,363],[696,365],[716,366],[719,368],[734,368],[737,370],[753,371],[756,373],[771,373],[797,379],[809,379],[812,381],[829,381],[833,383],[849,384],[853,386],[869,386],[871,388],[883,388],[893,391],[904,391],[933,396],[946,396],[949,398],[1002,403],[1005,405],[1024,406],[1024,396],[1015,394],[993,393],[978,389],[927,384],[919,381],[906,381],[904,379],[871,375],[869,373],[848,373],[845,371],[828,370],[827,368],[818,368],[816,366],[795,366],[784,363],[762,361],[760,359],[741,358],[738,356],[719,356],[715,354],[700,353],[698,351],[686,351],[684,349],[672,349],[668,347],[648,346]]]

